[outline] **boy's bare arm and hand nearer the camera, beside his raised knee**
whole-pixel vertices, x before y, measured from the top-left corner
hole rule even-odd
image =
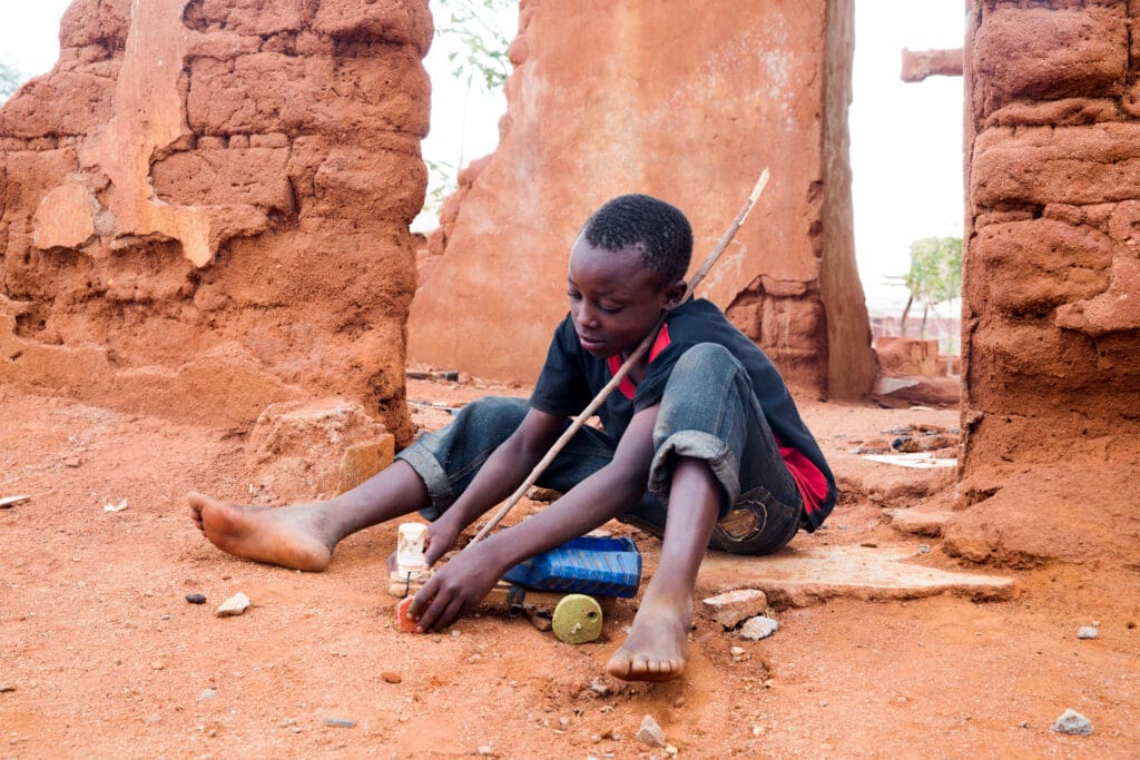
[[[657,412],[653,406],[634,415],[609,465],[538,514],[488,536],[441,567],[408,611],[417,628],[446,628],[478,606],[512,565],[589,532],[641,499],[653,461]]]

